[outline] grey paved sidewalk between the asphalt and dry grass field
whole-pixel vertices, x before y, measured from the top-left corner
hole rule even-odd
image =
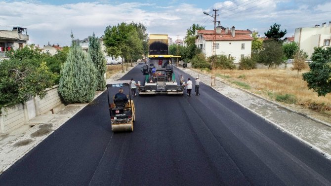
[[[183,72],[193,77],[199,74],[199,79],[210,85],[209,75],[189,68]],[[219,77],[216,77],[216,85],[212,88],[331,159],[330,123],[310,118],[243,89],[234,88]],[[202,94],[203,91],[200,90]]]

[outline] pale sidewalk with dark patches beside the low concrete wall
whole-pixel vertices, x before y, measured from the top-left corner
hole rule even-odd
[[[132,67],[128,68],[130,71]],[[117,80],[125,73],[114,74],[110,80]],[[101,95],[102,92],[96,92],[94,99]],[[0,134],[0,174],[7,170],[16,161],[22,158],[31,149],[35,148],[39,143],[52,134],[56,129],[62,126],[67,120],[81,111],[88,103],[85,104],[69,104],[63,110],[55,114],[41,114],[24,126],[6,135]],[[35,125],[30,128],[29,125]],[[27,130],[27,128],[30,128]],[[23,132],[24,131],[24,132]]]

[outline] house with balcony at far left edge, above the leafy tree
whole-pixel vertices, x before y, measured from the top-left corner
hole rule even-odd
[[[0,58],[7,57],[10,50],[23,48],[28,41],[26,28],[13,27],[10,30],[0,30]]]

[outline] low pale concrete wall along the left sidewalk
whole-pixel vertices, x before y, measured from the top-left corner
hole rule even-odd
[[[62,104],[57,89],[58,86],[47,89],[47,95],[43,99],[33,97],[24,105],[19,104],[13,107],[2,108],[0,115],[0,132],[10,133],[23,126],[25,122],[36,115],[51,112],[53,108]]]

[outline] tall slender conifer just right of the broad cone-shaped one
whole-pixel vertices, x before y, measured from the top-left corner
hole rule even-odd
[[[101,42],[93,33],[89,37],[88,53],[96,69],[96,90],[103,91],[106,87],[104,74],[106,73],[106,59],[101,49]]]

